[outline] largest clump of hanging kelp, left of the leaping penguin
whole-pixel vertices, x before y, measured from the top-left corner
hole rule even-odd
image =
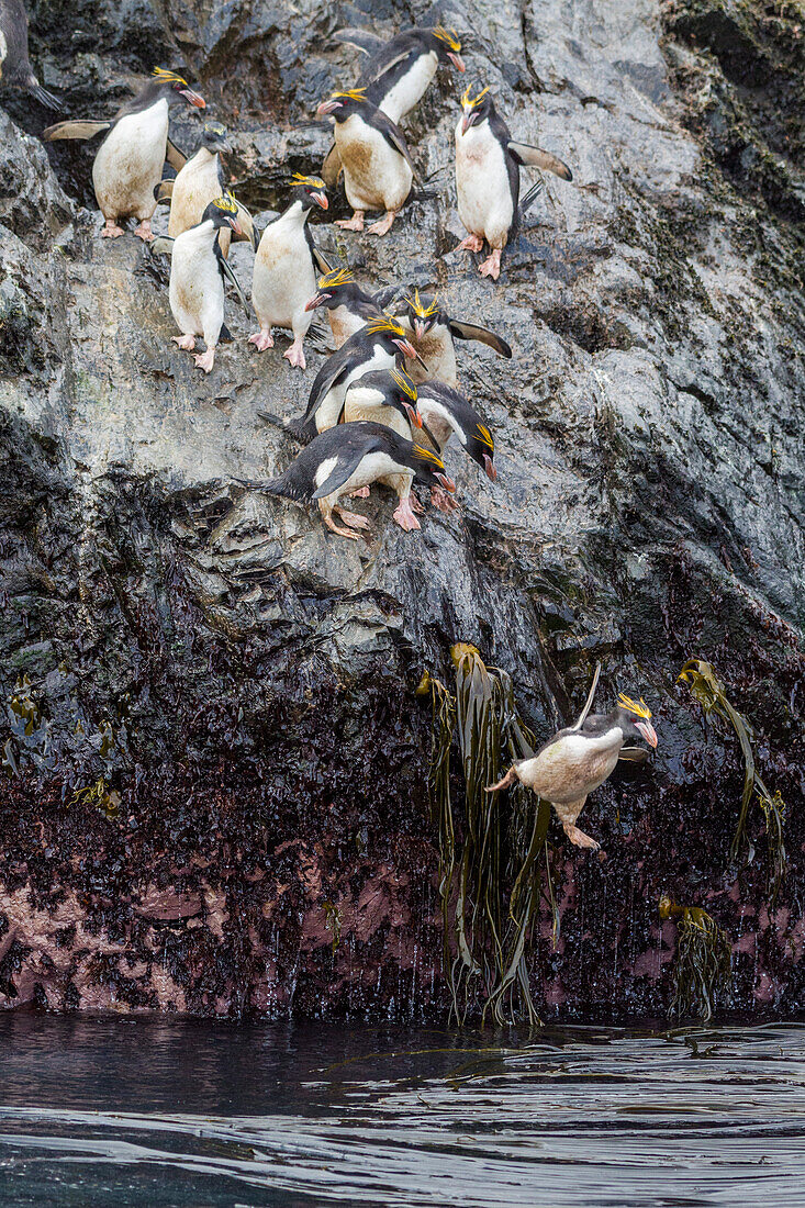
[[[499,794],[485,791],[502,766],[533,754],[534,738],[517,714],[505,672],[486,667],[476,647],[465,643],[454,645],[451,656],[454,698],[430,676],[418,691],[430,692],[433,701],[429,784],[439,830],[445,972],[453,1014],[463,1021],[482,1000],[485,1015],[490,1011],[497,1023],[523,1010],[535,1023],[526,958],[539,908],[538,856],[550,811],[545,802],[534,809],[533,794],[519,789],[509,795],[504,813]],[[448,774],[456,730],[465,786],[459,820]]]

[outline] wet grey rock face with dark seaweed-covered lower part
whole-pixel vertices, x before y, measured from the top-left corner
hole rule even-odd
[[[367,283],[438,288],[514,348],[459,347],[498,482],[451,448],[461,511],[404,534],[376,490],[363,544],[233,484],[294,455],[260,412],[303,410],[323,338],[291,371],[282,336],[247,347],[254,316],[231,301],[234,342],[202,377],[169,342],[164,267],[131,234],[97,239],[92,145],[46,152],[47,116],[0,95],[0,1005],[444,1012],[413,687],[425,667],[448,683],[448,646],[468,640],[511,673],[540,737],[596,660],[602,707],[642,693],[660,733],[648,768],[581,815],[604,861],[551,830],[561,929],[554,947],[545,904],[531,958],[543,1016],[664,1012],[662,892],[730,934],[725,1005],[801,1010],[801,34],[774,10],[442,10],[470,31],[467,82],[575,179],[546,178],[499,283],[480,279],[454,251],[458,82],[440,74],[406,123],[435,196],[378,242],[314,220]],[[42,0],[31,57],[76,116],[111,112],[154,63],[186,65],[234,132],[239,194],[276,209],[326,150],[315,104],[358,71],[328,34],[390,34],[392,16]],[[176,118],[192,150],[197,118]],[[346,213],[341,194],[328,220]],[[249,249],[233,262],[248,285]],[[774,908],[757,803],[754,859],[728,867],[742,765],[674,686],[694,655],[788,802]]]

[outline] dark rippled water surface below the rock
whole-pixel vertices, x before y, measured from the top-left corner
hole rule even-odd
[[[0,1204],[805,1203],[805,1026],[0,1016]]]

